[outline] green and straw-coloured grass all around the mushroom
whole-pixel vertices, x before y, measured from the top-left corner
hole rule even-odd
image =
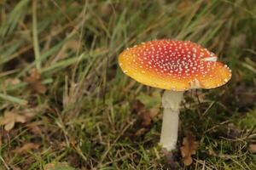
[[[0,127],[0,169],[256,169],[253,0],[3,0],[0,10],[0,114],[34,114]],[[224,87],[185,94],[177,148],[187,132],[199,142],[189,167],[179,150],[170,163],[157,147],[161,90],[117,64],[122,50],[155,38],[201,43],[233,71]],[[41,78],[28,83],[33,68]],[[28,143],[39,146],[17,151]]]

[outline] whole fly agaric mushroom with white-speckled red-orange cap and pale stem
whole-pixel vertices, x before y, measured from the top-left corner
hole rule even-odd
[[[227,65],[217,56],[189,41],[154,40],[127,48],[119,55],[126,75],[154,88],[165,89],[160,144],[170,151],[176,148],[179,105],[183,92],[192,88],[217,88],[230,80]]]

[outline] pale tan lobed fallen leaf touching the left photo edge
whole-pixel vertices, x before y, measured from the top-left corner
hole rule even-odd
[[[11,130],[15,126],[15,122],[26,122],[26,116],[12,111],[5,111],[3,116],[0,116],[0,125],[4,125],[6,131]]]

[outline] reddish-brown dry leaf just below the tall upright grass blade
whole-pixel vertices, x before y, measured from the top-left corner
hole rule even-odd
[[[25,82],[28,82],[29,89],[32,93],[45,94],[46,87],[41,82],[41,75],[37,69],[33,68],[30,71],[30,75],[24,78]]]

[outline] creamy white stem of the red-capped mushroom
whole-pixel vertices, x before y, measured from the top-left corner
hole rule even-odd
[[[160,144],[168,151],[176,149],[179,105],[183,92],[165,91],[162,97],[164,116],[160,136]]]

